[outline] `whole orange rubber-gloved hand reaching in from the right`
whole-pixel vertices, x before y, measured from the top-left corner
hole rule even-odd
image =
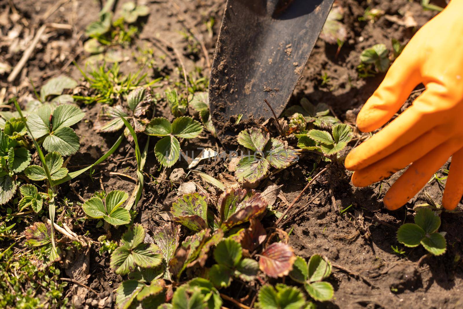
[[[363,187],[412,163],[384,196],[390,210],[416,195],[452,156],[442,205],[457,206],[463,194],[463,0],[447,7],[413,36],[357,116],[370,132],[400,109],[420,82],[426,90],[380,132],[352,150],[345,167]]]

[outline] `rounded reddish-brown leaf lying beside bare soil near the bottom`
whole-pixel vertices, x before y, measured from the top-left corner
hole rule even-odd
[[[293,269],[295,260],[296,255],[291,246],[275,242],[259,255],[259,268],[269,277],[283,277]]]

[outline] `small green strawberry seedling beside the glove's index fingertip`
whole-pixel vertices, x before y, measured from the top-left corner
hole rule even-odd
[[[307,136],[301,136],[298,147],[302,150],[321,151],[325,155],[336,157],[335,155],[343,150],[347,143],[352,139],[352,128],[344,123],[333,126],[332,134],[326,131],[310,130]]]

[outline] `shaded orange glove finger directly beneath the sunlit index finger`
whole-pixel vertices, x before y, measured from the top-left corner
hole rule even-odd
[[[394,174],[405,168],[408,164],[417,161],[442,144],[444,135],[442,130],[431,130],[415,139],[409,145],[400,148],[390,156],[371,164],[352,174],[352,183],[356,187],[366,187]]]

